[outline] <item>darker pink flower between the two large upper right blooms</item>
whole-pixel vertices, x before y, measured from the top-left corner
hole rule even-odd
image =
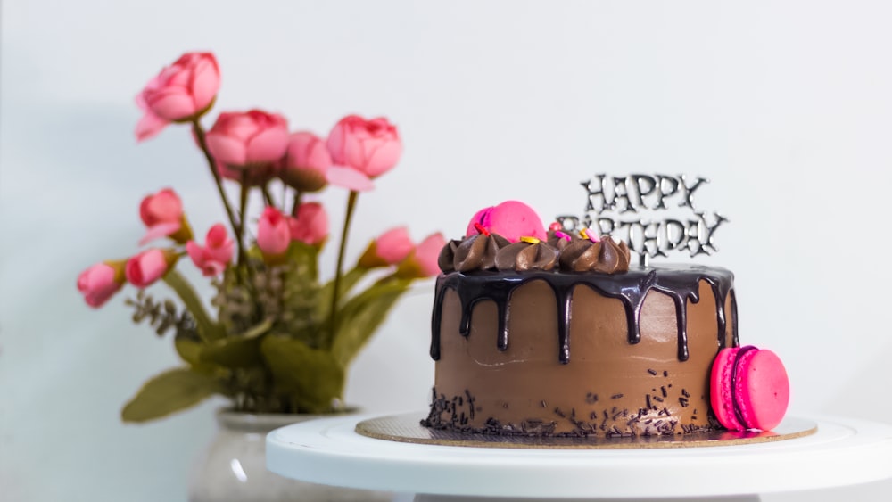
[[[318,192],[328,184],[326,173],[331,165],[331,154],[321,138],[308,132],[294,133],[288,138],[279,177],[301,192]]]

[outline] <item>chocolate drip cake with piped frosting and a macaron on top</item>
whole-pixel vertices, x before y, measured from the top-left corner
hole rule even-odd
[[[546,231],[520,202],[478,212],[440,255],[422,425],[600,438],[723,428],[710,373],[739,347],[733,274],[630,260],[608,235]]]

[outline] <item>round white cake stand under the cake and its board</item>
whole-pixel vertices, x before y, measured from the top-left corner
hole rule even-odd
[[[417,416],[423,416],[421,412]],[[417,501],[485,498],[758,500],[758,493],[892,477],[892,425],[814,419],[812,435],[673,449],[503,449],[359,435],[373,416],[293,424],[267,436],[267,467],[320,484],[415,493]],[[792,418],[791,420],[798,420]]]

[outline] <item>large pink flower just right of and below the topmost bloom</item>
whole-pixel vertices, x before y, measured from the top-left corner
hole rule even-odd
[[[268,168],[285,155],[288,124],[260,110],[220,113],[206,140],[214,159],[228,168]]]

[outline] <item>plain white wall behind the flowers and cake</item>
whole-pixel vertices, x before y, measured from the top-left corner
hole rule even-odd
[[[125,295],[93,310],[75,288],[83,268],[136,251],[147,193],[172,185],[199,235],[221,219],[185,128],[132,134],[134,95],[189,50],[219,58],[216,111],[279,111],[320,134],[350,112],[399,126],[405,155],[360,197],[354,257],[396,224],[458,237],[506,199],[545,219],[581,213],[594,173],[709,177],[698,204],[731,223],[703,261],[736,273],[741,339],[785,359],[790,413],[892,421],[890,21],[880,1],[5,0],[0,499],[184,500],[214,431],[218,400],[120,423],[139,385],[178,360],[130,324]],[[340,222],[344,194],[324,201]],[[359,357],[348,401],[426,406],[431,289]]]

